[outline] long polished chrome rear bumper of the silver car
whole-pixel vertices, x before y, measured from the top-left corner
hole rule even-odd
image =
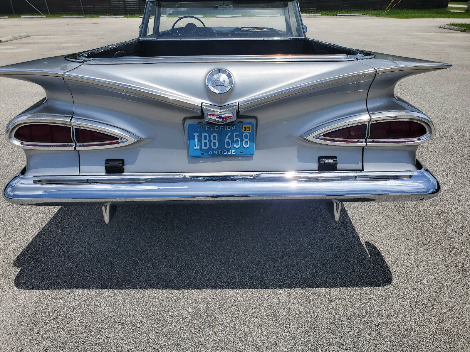
[[[419,165],[419,164],[418,164]],[[341,202],[407,201],[435,197],[439,183],[426,168],[416,171],[260,172],[24,176],[6,186],[14,204],[64,205],[148,201],[317,199]]]

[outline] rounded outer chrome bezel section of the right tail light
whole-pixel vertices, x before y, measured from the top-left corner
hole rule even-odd
[[[415,121],[426,128],[426,134],[419,138],[410,139],[370,139],[367,138],[368,146],[381,145],[419,145],[430,140],[434,136],[434,124],[431,119],[423,113],[414,111],[386,111],[370,115],[370,123],[383,121]]]

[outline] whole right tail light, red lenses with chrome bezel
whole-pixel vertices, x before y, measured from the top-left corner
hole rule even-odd
[[[424,114],[403,111],[357,116],[321,125],[302,137],[316,143],[343,146],[415,145],[430,139],[434,125]]]

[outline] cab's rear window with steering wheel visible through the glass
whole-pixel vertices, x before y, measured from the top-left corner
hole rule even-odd
[[[141,38],[304,37],[295,1],[150,1]]]

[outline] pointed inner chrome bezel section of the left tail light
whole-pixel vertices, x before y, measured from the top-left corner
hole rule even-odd
[[[110,134],[119,138],[119,142],[117,144],[106,145],[109,142],[100,142],[100,143],[76,143],[77,150],[91,150],[91,149],[107,149],[107,148],[115,148],[118,146],[129,145],[139,141],[141,138],[137,137],[131,132],[126,130],[120,129],[115,126],[107,125],[101,122],[80,119],[77,117],[72,118],[71,123],[73,127],[81,127],[87,130],[96,130],[99,132],[103,132],[106,134]],[[75,139],[75,130],[74,130],[74,139]]]

